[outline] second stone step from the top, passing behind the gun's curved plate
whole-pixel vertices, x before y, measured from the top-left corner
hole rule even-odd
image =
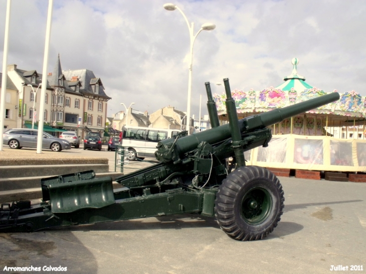
[[[90,169],[88,169],[90,170]],[[86,171],[86,170],[84,170]],[[95,170],[94,170],[95,171]],[[81,172],[81,171],[78,171]],[[70,172],[69,172],[70,173]],[[64,174],[64,173],[63,173]],[[60,174],[56,174],[60,175]],[[100,178],[103,176],[112,177],[114,180],[116,177],[123,175],[121,172],[102,172],[96,173],[95,177]],[[15,189],[28,189],[28,188],[37,188],[41,186],[41,179],[52,177],[55,175],[45,175],[45,176],[33,176],[33,177],[17,177],[17,178],[0,178],[0,190],[15,190]]]

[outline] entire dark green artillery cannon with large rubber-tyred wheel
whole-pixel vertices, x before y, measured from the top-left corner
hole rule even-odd
[[[339,94],[238,120],[229,80],[224,83],[228,124],[219,125],[210,83],[206,83],[212,129],[160,141],[155,152],[159,163],[116,178],[119,189],[113,190],[110,177],[95,178],[93,171],[44,178],[41,204],[2,204],[0,232],[199,213],[215,216],[234,239],[267,236],[280,221],[284,193],[269,170],[245,165],[244,152],[268,146],[272,137],[268,126],[336,101]]]

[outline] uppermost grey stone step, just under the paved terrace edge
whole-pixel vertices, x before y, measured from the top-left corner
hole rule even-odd
[[[95,173],[109,171],[107,164],[50,164],[50,165],[13,165],[0,166],[0,178],[20,178],[52,176],[94,170]],[[0,190],[2,190],[0,185]]]

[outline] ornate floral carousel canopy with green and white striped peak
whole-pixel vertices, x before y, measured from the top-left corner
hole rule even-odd
[[[292,59],[293,70],[290,76],[284,78],[285,83],[262,91],[242,91],[235,89],[232,96],[238,113],[267,112],[275,108],[282,108],[298,102],[306,101],[327,94],[325,91],[312,87],[305,82],[305,78],[297,74],[297,58]],[[335,92],[336,90],[334,90]],[[219,115],[226,114],[226,95],[214,94],[214,100]],[[355,91],[340,94],[340,100],[311,110],[307,113],[335,114],[341,116],[364,117],[366,115],[366,97]]]

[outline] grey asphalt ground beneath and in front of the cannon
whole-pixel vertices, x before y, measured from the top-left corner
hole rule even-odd
[[[39,273],[49,272],[44,266],[67,267],[66,272],[49,273],[85,274],[365,273],[366,183],[279,178],[284,213],[263,240],[233,240],[214,218],[197,214],[3,233],[0,269],[33,265],[41,267]],[[351,271],[354,265],[363,270]]]

